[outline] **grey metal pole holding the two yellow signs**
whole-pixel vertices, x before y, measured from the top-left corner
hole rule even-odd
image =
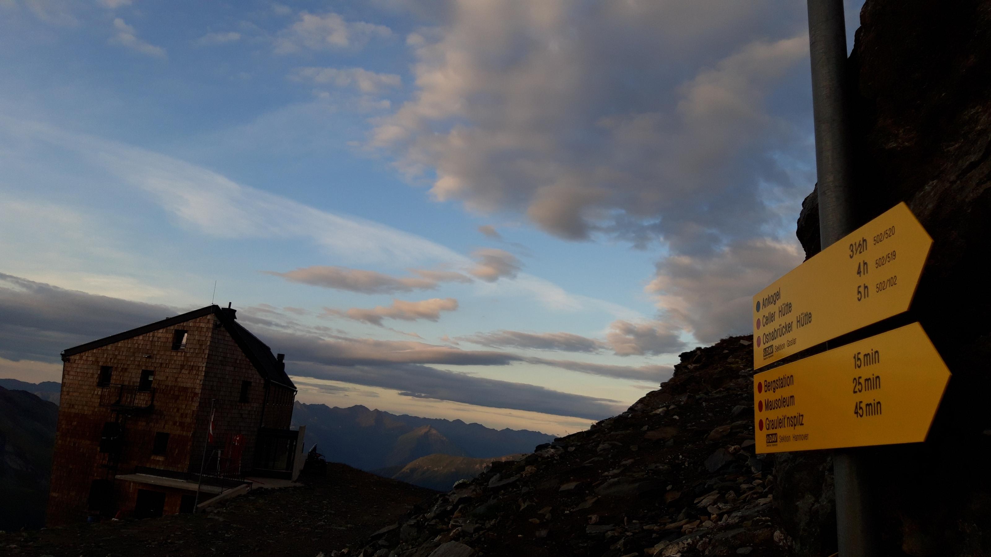
[[[845,106],[846,26],[842,0],[808,0],[808,5],[820,242],[825,249],[855,228]],[[840,557],[877,555],[862,461],[856,449],[837,450],[832,457]]]

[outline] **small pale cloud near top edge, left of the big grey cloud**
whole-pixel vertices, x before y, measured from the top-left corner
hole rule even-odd
[[[360,49],[373,39],[387,39],[392,32],[385,26],[367,22],[348,22],[335,13],[302,12],[287,29],[275,38],[275,54],[311,51]]]

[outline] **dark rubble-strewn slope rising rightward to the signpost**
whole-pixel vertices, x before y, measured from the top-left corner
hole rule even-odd
[[[331,555],[793,555],[775,459],[753,454],[751,361],[746,337],[682,354],[626,412]]]

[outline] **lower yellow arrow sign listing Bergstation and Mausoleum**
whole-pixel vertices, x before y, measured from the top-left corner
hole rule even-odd
[[[919,323],[753,377],[758,453],[926,440],[949,370]]]

